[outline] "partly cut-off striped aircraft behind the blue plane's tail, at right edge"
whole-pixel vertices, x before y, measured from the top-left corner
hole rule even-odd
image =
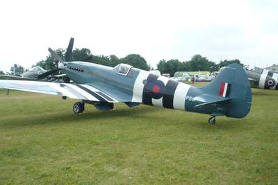
[[[278,89],[278,73],[272,73],[266,69],[256,67],[255,71],[245,70],[254,88]]]

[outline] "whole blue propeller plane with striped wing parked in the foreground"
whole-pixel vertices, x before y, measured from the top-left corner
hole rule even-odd
[[[210,84],[197,88],[128,64],[112,68],[88,62],[65,62],[50,48],[49,52],[60,62],[58,69],[74,84],[0,80],[0,88],[79,99],[73,105],[76,114],[83,112],[85,103],[100,110],[111,110],[114,103],[180,109],[210,114],[208,123],[215,123],[215,116],[243,118],[250,112],[250,83],[238,64],[229,65]]]

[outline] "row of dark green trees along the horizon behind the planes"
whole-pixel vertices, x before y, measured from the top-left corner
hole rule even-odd
[[[57,49],[56,53],[60,55],[60,57],[65,60],[65,49]],[[126,55],[124,58],[118,58],[116,55],[92,55],[90,49],[82,48],[82,49],[74,49],[72,51],[72,60],[73,61],[83,61],[83,62],[91,62],[95,64],[101,64],[108,67],[115,67],[117,64],[124,63],[130,64],[133,67],[138,69],[143,69],[149,71],[151,69],[150,65],[147,64],[145,58],[138,54],[130,54]],[[223,60],[220,61],[219,64],[216,62],[212,62],[208,60],[206,57],[202,55],[194,55],[189,61],[181,62],[179,60],[160,60],[157,64],[157,69],[161,71],[161,73],[170,73],[170,76],[174,76],[174,73],[177,71],[218,71],[220,67],[227,66],[231,63],[238,63],[243,66],[240,60]],[[54,70],[58,68],[58,61],[51,55],[47,55],[45,60],[41,60],[36,62],[33,67],[42,67],[46,70]],[[20,65],[17,65],[20,71],[24,71],[24,68]],[[10,69],[13,72],[13,67]],[[0,71],[3,73],[3,71]]]

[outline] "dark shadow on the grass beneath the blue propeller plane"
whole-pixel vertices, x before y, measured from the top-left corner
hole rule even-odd
[[[28,117],[20,117],[20,118],[13,118],[9,119],[7,121],[3,121],[1,123],[2,128],[10,128],[10,127],[32,127],[33,125],[65,125],[65,124],[76,124],[79,125],[83,121],[90,121],[90,124],[95,125],[96,123],[99,124],[101,122],[101,125],[106,125],[108,121],[107,118],[110,118],[109,124],[111,123],[111,120],[113,118],[125,118],[126,120],[129,119],[129,122],[136,123],[136,118],[144,118],[145,114],[149,114],[149,112],[161,112],[161,109],[154,109],[152,107],[140,107],[140,108],[133,108],[133,109],[117,109],[115,111],[110,112],[94,112],[92,114],[91,111],[84,112],[84,114],[79,114],[79,116],[76,116],[74,114],[67,114],[66,112],[64,114],[59,114],[57,117],[57,114],[45,114],[44,116],[28,116]],[[195,116],[197,114],[190,113]],[[185,115],[184,118],[186,119]],[[149,116],[146,116],[149,117]],[[172,118],[171,118],[171,121]],[[245,120],[246,121],[246,120]],[[237,120],[237,119],[227,119],[225,121],[225,124],[220,125],[214,125],[211,127],[210,125],[204,124],[202,120],[195,120],[195,121],[187,121],[186,123],[184,121],[181,121],[180,118],[177,118],[177,125],[181,127],[196,127],[197,130],[204,130],[206,132],[215,132],[215,129],[217,130],[238,130],[240,127],[244,127],[245,121],[243,120]],[[115,121],[117,123],[117,121]],[[154,123],[154,121],[150,121],[149,124]],[[129,123],[126,123],[129,124]],[[140,124],[140,123],[138,123]],[[166,121],[161,121],[161,125],[172,125],[171,123],[168,123]]]

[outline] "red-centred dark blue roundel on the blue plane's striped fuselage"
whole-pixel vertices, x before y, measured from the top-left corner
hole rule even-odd
[[[163,96],[165,85],[161,80],[152,80],[147,82],[145,88],[151,98],[159,99]]]

